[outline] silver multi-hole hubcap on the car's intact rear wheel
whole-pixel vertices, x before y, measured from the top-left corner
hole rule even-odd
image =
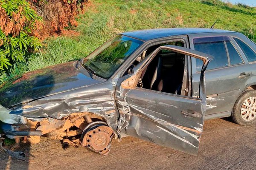
[[[256,97],[246,99],[241,107],[241,116],[245,121],[256,117]]]

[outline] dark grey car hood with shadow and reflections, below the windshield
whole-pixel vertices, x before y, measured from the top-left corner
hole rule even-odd
[[[10,107],[33,99],[99,83],[67,62],[15,77],[0,86],[0,105]]]

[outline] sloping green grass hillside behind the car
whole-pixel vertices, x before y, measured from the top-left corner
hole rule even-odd
[[[45,47],[28,56],[28,62],[0,73],[0,84],[17,74],[86,57],[115,34],[148,28],[198,27],[238,31],[256,42],[256,8],[219,0],[91,0],[81,14],[77,37],[44,41]]]

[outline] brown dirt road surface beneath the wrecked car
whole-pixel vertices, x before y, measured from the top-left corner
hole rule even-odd
[[[29,162],[8,159],[0,152],[0,170],[253,170],[256,169],[256,125],[244,127],[229,119],[206,121],[198,156],[161,147],[133,137],[113,141],[111,153],[101,156],[82,147],[61,148],[42,138],[36,145],[22,144]]]

